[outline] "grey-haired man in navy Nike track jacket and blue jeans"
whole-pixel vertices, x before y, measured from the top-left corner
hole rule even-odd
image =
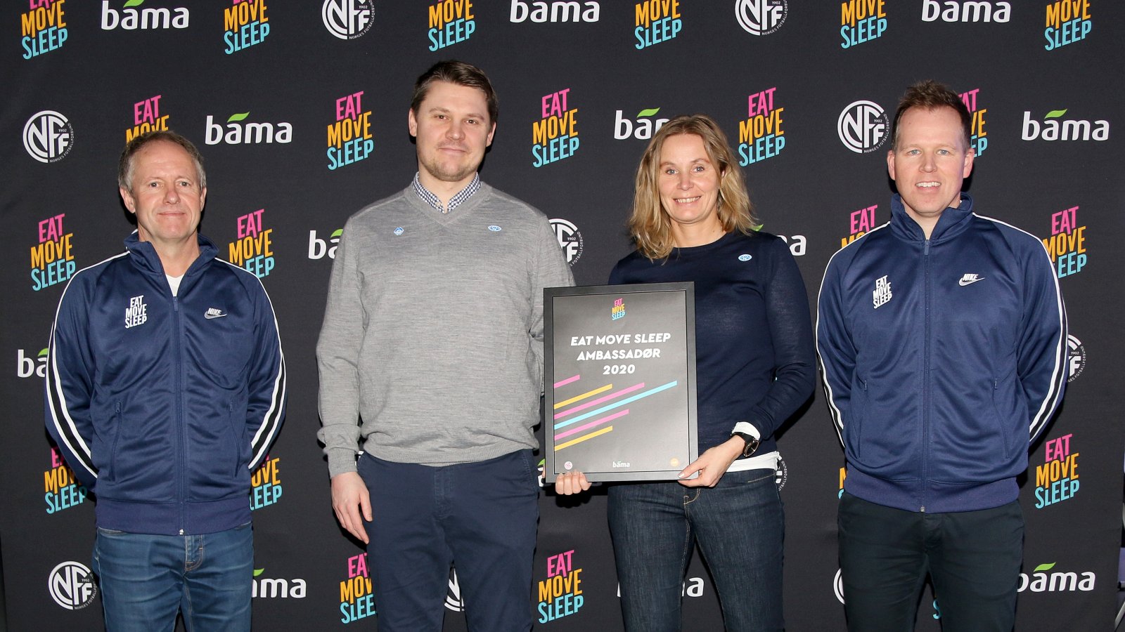
[[[46,423],[93,493],[109,632],[249,632],[250,477],[285,415],[285,358],[258,278],[199,235],[202,159],[133,138],[118,186],[137,229],[58,301]]]

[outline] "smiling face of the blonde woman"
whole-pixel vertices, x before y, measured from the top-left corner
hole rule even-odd
[[[703,138],[694,134],[677,134],[664,139],[657,182],[660,204],[672,218],[674,231],[720,226],[720,175],[703,147]]]

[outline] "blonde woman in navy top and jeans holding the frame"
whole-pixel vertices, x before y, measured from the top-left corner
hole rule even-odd
[[[637,170],[637,251],[611,283],[695,282],[701,455],[677,481],[615,484],[609,521],[629,631],[675,631],[694,543],[728,631],[782,630],[784,515],[774,431],[812,394],[804,283],[785,243],[754,231],[741,172],[710,117],[654,135]],[[695,472],[699,477],[686,479]],[[588,488],[559,477],[560,494]]]

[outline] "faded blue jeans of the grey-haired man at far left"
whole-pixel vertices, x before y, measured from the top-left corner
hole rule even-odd
[[[108,632],[250,630],[254,540],[248,522],[202,535],[98,529],[93,545]]]

